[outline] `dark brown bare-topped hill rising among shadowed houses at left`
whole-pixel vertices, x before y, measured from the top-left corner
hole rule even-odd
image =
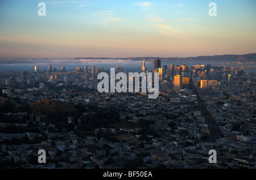
[[[35,102],[30,105],[32,113],[47,119],[61,120],[68,116],[75,117],[78,112],[74,105],[67,102],[52,101],[50,99]]]

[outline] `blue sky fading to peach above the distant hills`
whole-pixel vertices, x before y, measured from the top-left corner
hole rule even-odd
[[[255,0],[0,1],[0,57],[196,57],[255,47]]]

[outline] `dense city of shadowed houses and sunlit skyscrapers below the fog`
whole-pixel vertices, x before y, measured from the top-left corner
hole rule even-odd
[[[2,71],[0,168],[256,168],[256,76],[242,65],[161,67],[156,59],[147,70],[143,61],[134,72],[159,75],[152,99],[98,92],[100,72],[110,76],[95,66]]]

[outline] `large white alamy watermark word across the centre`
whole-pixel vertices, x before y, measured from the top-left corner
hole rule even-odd
[[[115,75],[115,68],[110,68],[110,92],[127,92],[128,81],[128,92],[139,92],[141,83],[141,92],[148,92],[148,98],[157,98],[159,95],[158,72],[154,72],[154,88],[152,87],[152,78],[152,72],[147,72],[147,74],[145,72],[140,74],[138,72],[129,72],[129,80],[127,80],[125,72],[118,72]],[[102,79],[97,85],[98,92],[109,92],[109,75],[106,72],[100,72],[97,79]],[[115,84],[115,80],[119,80],[119,82]]]

